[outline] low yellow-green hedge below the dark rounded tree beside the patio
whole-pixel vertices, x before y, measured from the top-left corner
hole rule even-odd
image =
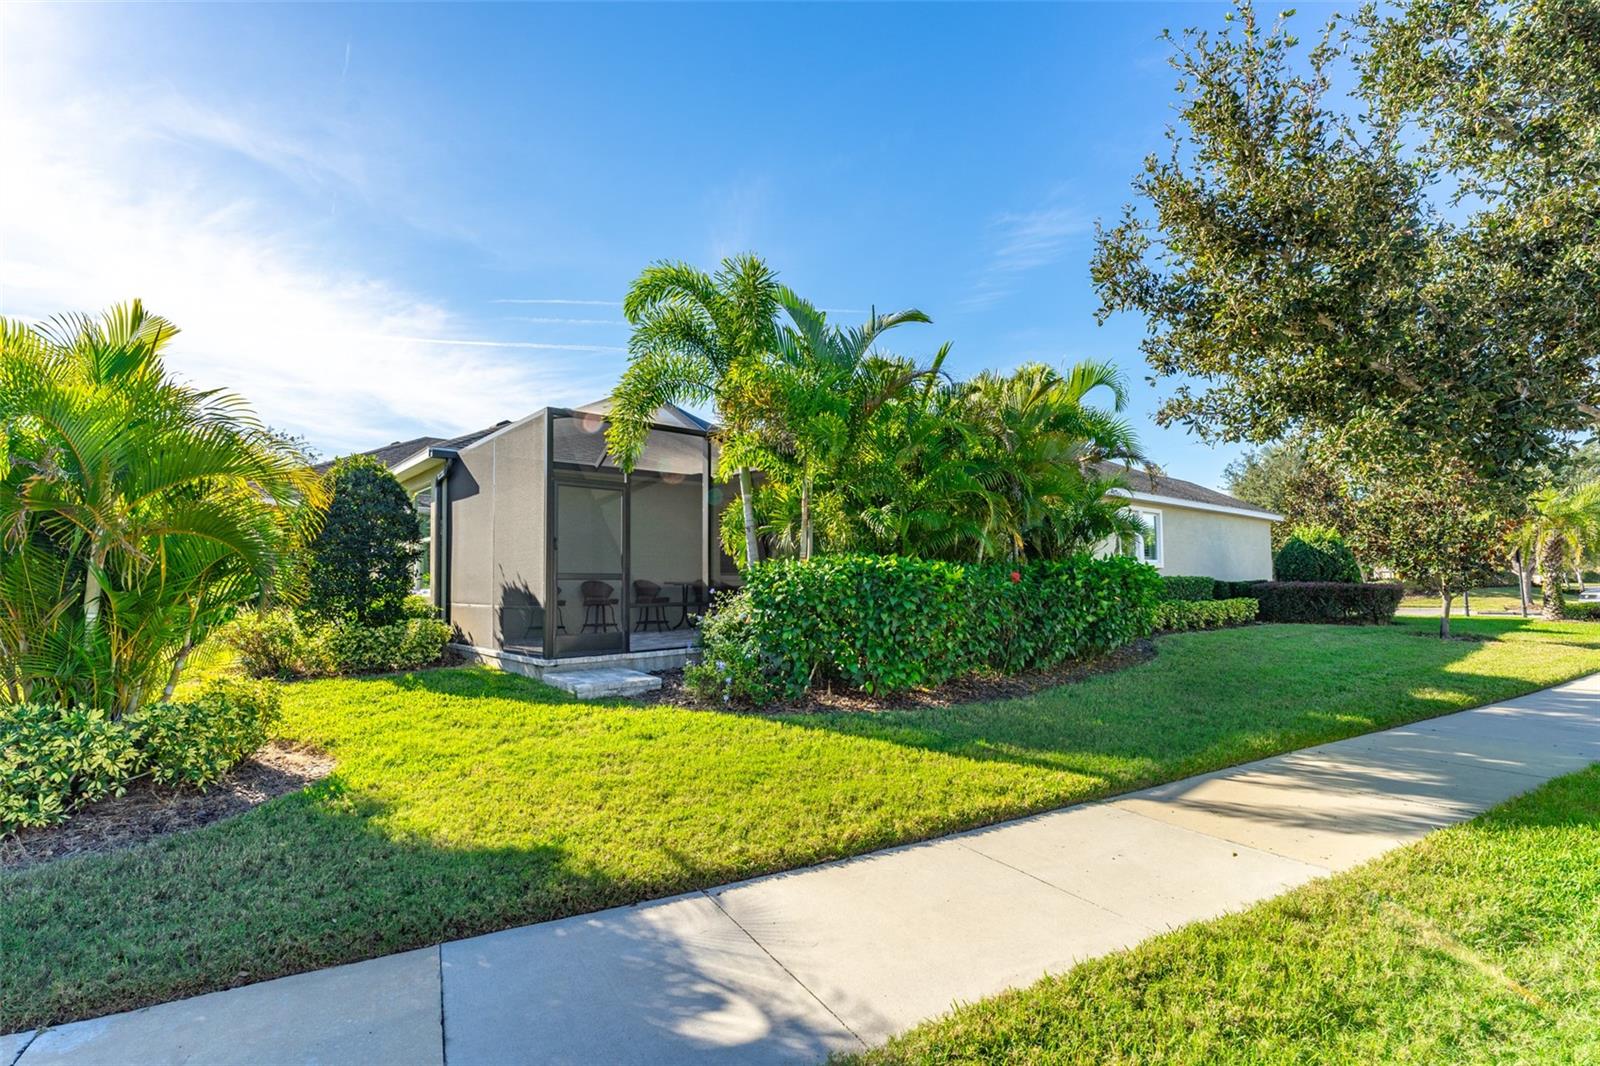
[[[235,618],[218,639],[238,653],[240,667],[251,677],[410,671],[443,656],[450,626],[434,616],[426,600],[410,597],[408,605],[413,616],[392,626],[306,626],[290,611],[262,611]]]

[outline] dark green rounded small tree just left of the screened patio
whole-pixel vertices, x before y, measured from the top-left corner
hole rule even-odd
[[[397,623],[422,555],[416,511],[373,456],[339,459],[328,480],[333,503],[310,549],[306,611],[362,626]]]

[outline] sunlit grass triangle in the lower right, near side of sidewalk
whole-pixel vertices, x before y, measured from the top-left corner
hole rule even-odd
[[[853,1061],[1600,1061],[1600,767]]]

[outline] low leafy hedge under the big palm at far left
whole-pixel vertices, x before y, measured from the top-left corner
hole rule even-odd
[[[243,680],[117,722],[83,707],[0,707],[0,836],[66,821],[139,778],[203,789],[266,743],[277,714],[277,690]]]

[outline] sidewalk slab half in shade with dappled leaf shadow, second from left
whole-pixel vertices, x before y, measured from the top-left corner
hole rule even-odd
[[[443,946],[451,1066],[816,1063],[861,1044],[702,893]]]

